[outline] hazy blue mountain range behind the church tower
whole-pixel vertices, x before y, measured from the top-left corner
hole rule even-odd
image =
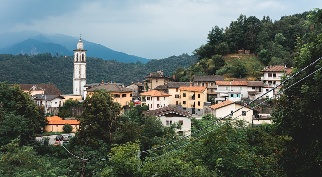
[[[78,38],[63,34],[44,34],[38,31],[22,31],[0,34],[0,54],[40,54],[49,52],[52,55],[73,56]],[[149,59],[118,52],[100,44],[82,39],[87,57],[103,60],[116,60],[124,63],[147,63]]]

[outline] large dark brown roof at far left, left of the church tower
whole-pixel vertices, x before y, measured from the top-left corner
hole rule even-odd
[[[22,90],[44,90],[45,95],[61,95],[60,91],[54,84],[19,84]]]

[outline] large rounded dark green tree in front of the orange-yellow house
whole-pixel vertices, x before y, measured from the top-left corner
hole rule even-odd
[[[90,137],[89,144],[97,146],[98,141],[111,143],[112,134],[118,130],[121,106],[113,101],[113,96],[106,90],[95,93],[83,102],[84,111],[76,117],[79,124],[79,137]],[[97,140],[96,140],[97,139]]]

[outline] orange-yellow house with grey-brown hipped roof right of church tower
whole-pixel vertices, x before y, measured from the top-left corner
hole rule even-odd
[[[87,95],[90,97],[91,94],[95,92],[95,90],[104,89],[114,96],[114,102],[119,103],[121,106],[126,106],[129,102],[132,101],[132,89],[122,87],[116,84],[107,84],[107,85],[99,85],[97,87],[89,87],[85,91],[87,91]]]

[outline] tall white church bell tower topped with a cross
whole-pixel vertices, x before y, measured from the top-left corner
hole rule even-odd
[[[84,50],[83,42],[80,40],[77,43],[77,49],[74,51],[74,79],[73,79],[73,94],[84,96],[83,86],[86,85],[86,51]]]

